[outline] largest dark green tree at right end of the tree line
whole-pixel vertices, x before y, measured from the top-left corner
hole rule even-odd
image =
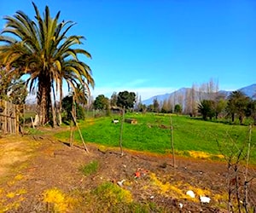
[[[239,90],[234,91],[230,94],[230,96],[228,97],[226,111],[230,115],[232,122],[235,121],[235,118],[237,116],[239,118],[240,124],[242,124],[249,101],[250,98],[244,95]]]

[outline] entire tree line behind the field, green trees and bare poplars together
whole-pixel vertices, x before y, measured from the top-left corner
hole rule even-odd
[[[125,101],[124,101],[125,100]],[[129,103],[129,104],[127,104]],[[201,116],[204,120],[230,119],[234,123],[244,124],[244,118],[251,119],[256,124],[256,100],[236,90],[226,95],[218,91],[218,82],[210,79],[200,86],[193,84],[186,89],[185,94],[175,94],[164,101],[156,98],[146,106],[141,97],[128,91],[113,92],[110,99],[98,95],[91,108],[109,110],[111,107],[125,107],[136,112],[179,113],[191,117]]]

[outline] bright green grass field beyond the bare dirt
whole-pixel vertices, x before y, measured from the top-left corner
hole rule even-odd
[[[113,118],[118,118],[119,123],[113,124]],[[172,153],[170,115],[127,113],[125,118],[136,118],[137,124],[124,123],[123,147],[151,153]],[[91,118],[80,122],[79,127],[85,141],[108,147],[119,147],[120,120],[119,115]],[[177,154],[190,155],[189,152],[194,151],[215,157],[222,153],[230,156],[231,152],[237,153],[237,150],[245,145],[244,155],[247,152],[248,126],[213,123],[177,115],[172,115],[172,125],[174,149]],[[67,141],[69,132],[62,132],[56,136]],[[75,140],[80,141],[77,132]],[[251,141],[251,163],[256,164],[255,127],[252,130]]]

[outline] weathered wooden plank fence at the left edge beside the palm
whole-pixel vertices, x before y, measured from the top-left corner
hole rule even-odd
[[[19,115],[17,109],[15,104],[0,100],[0,133],[19,133]]]

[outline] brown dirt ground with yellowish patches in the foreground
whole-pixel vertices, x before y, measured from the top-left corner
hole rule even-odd
[[[96,206],[102,208],[101,204],[88,201],[89,192],[104,182],[128,191],[137,204],[159,207],[149,208],[148,212],[227,212],[228,186],[233,180],[232,176],[228,177],[224,162],[176,157],[174,168],[172,156],[128,150],[121,156],[118,148],[94,144],[87,144],[87,147],[89,153],[81,145],[69,147],[66,141],[57,141],[50,133],[2,135],[0,212],[112,211],[111,206],[98,209]],[[92,161],[97,161],[99,168],[90,176],[84,176],[79,168]],[[250,170],[250,174],[255,176],[255,170]],[[234,188],[234,182],[230,184]],[[252,206],[256,205],[254,179],[249,187],[253,210]],[[242,186],[240,188],[242,190]],[[46,199],[49,192],[53,192],[49,190],[55,190],[55,198]],[[189,190],[195,193],[195,198],[186,194]],[[201,203],[199,196],[207,196],[210,203]],[[61,199],[62,209],[53,207],[58,202],[56,197]],[[73,197],[79,201],[69,202],[68,198]],[[114,212],[140,211],[119,209]]]

